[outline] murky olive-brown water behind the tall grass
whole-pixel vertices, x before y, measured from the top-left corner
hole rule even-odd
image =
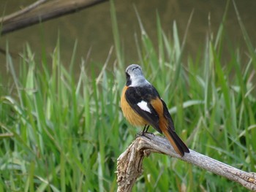
[[[0,14],[3,11],[6,13],[14,12],[18,7],[25,7],[31,0],[1,0],[1,4],[6,5],[0,7]],[[172,34],[173,21],[176,20],[178,32],[181,40],[184,37],[184,32],[187,27],[189,15],[194,10],[192,23],[189,27],[189,33],[186,44],[186,54],[195,55],[198,50],[203,50],[206,34],[211,28],[211,32],[216,35],[217,29],[222,21],[226,1],[203,1],[203,0],[162,0],[162,1],[116,1],[116,15],[118,18],[118,28],[121,37],[121,44],[124,48],[125,61],[127,65],[130,63],[138,63],[138,54],[135,48],[135,34],[140,37],[140,28],[138,18],[135,14],[135,7],[138,9],[140,18],[143,21],[143,26],[146,29],[149,37],[154,42],[157,48],[157,24],[156,12],[159,12],[159,17],[162,22],[166,34]],[[255,0],[236,1],[244,26],[255,45],[256,35],[256,15],[255,15]],[[209,19],[210,22],[209,22]],[[209,24],[210,23],[210,24]],[[233,2],[230,1],[230,7],[227,13],[225,23],[228,41],[234,46],[241,47],[241,52],[246,51],[244,39],[241,34],[241,29],[238,25],[236,12],[233,8]],[[42,35],[43,34],[43,35]],[[86,58],[87,53],[91,49],[90,61],[98,64],[100,68],[106,60],[110,47],[113,46],[113,34],[110,20],[110,4],[105,2],[98,4],[89,9],[76,12],[72,15],[66,15],[61,18],[49,20],[40,25],[23,28],[19,31],[4,35],[0,39],[0,47],[5,48],[8,42],[10,52],[22,53],[26,43],[31,46],[34,54],[40,58],[42,47],[48,53],[53,52],[56,42],[60,37],[61,42],[61,58],[64,64],[69,65],[72,55],[72,48],[75,40],[78,40],[78,51],[76,63],[79,71],[80,58]],[[115,53],[112,53],[112,60],[116,58]],[[245,54],[244,54],[245,55]],[[19,57],[15,57],[15,66],[19,65]],[[6,72],[5,55],[0,54],[0,72]]]

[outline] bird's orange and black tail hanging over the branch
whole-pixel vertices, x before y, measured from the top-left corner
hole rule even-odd
[[[184,144],[181,138],[178,137],[175,131],[170,130],[170,128],[166,128],[165,130],[162,130],[162,132],[178,154],[184,156],[184,153],[189,153],[189,148]]]

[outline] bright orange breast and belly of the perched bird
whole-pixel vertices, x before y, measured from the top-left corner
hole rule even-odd
[[[125,99],[125,91],[127,91],[127,86],[124,86],[124,89],[121,94],[121,110],[123,111],[124,117],[127,118],[129,123],[133,126],[145,126],[148,125],[148,122],[138,115],[135,110],[132,110],[132,107],[129,106],[129,103]]]

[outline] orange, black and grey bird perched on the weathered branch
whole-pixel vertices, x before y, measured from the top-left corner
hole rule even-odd
[[[181,155],[189,153],[189,148],[176,134],[173,119],[165,101],[157,89],[144,77],[138,64],[131,64],[125,70],[126,85],[121,93],[121,110],[132,126],[144,126],[142,135],[152,126],[160,134],[165,134],[173,149]]]

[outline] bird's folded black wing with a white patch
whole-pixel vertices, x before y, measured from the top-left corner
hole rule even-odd
[[[138,113],[142,118],[144,118],[151,126],[153,126],[160,134],[162,134],[161,129],[159,128],[159,116],[157,115],[156,110],[150,104],[152,99],[159,97],[159,93],[152,86],[143,86],[143,87],[129,87],[125,93],[127,102],[132,107],[135,112]],[[146,102],[144,107],[139,106],[140,102]]]

